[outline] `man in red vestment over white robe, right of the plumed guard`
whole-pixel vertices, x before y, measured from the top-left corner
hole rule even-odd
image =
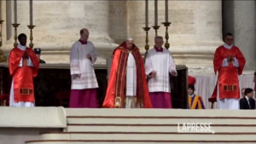
[[[241,75],[245,63],[240,49],[233,45],[233,35],[227,33],[224,45],[216,49],[213,59],[214,72],[218,72],[218,82],[212,98],[216,99],[219,109],[239,109],[238,76]]]

